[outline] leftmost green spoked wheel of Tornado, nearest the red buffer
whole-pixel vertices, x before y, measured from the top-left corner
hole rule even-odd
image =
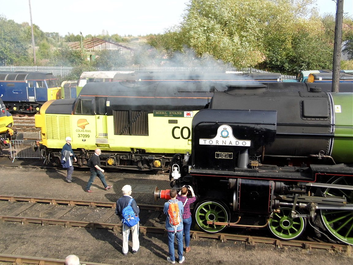
[[[207,224],[207,221],[228,222],[229,216],[226,207],[216,201],[202,202],[195,211],[196,223],[208,233],[220,232],[226,225]]]

